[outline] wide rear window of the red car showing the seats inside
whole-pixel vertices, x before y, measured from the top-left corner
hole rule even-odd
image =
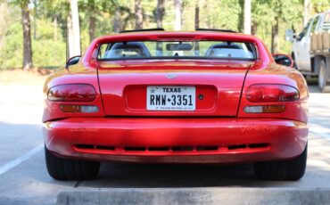
[[[251,43],[228,41],[131,41],[100,45],[98,60],[129,59],[233,59],[256,60]]]

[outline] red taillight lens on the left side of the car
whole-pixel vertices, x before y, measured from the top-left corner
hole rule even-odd
[[[92,102],[95,97],[94,86],[88,84],[53,86],[48,91],[48,100],[55,102]]]

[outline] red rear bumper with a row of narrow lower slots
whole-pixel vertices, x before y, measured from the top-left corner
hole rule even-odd
[[[285,119],[71,118],[46,122],[45,145],[65,158],[232,163],[293,158],[308,127]]]

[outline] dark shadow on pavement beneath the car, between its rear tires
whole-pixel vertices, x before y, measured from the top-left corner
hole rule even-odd
[[[95,182],[82,186],[96,187],[205,187],[241,186],[255,180],[252,164],[132,164],[103,163]]]

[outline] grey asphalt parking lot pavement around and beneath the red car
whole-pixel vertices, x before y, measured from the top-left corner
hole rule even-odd
[[[252,164],[103,163],[92,181],[55,181],[45,169],[41,86],[0,86],[0,204],[54,204],[62,190],[89,188],[330,188],[330,94],[309,86],[309,158],[297,182],[253,177]]]

